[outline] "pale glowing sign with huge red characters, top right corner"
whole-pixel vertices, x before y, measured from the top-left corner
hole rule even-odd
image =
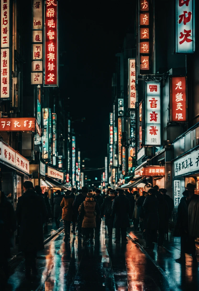
[[[177,53],[195,51],[195,0],[176,0],[176,37]]]

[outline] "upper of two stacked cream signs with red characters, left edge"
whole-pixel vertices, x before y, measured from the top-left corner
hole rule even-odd
[[[1,1],[1,48],[9,47],[10,0]]]

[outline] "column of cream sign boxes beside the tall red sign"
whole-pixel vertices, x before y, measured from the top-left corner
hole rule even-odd
[[[42,0],[32,6],[32,72],[31,84],[43,84]]]

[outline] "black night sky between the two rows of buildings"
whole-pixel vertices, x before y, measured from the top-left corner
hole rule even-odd
[[[121,51],[126,33],[132,33],[134,3],[59,1],[59,63],[64,65],[59,86],[72,120],[86,118],[73,123],[82,158],[90,159],[86,167],[104,166],[115,54]],[[97,172],[93,175],[101,179],[102,171]]]

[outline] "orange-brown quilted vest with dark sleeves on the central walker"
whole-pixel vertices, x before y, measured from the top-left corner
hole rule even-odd
[[[95,202],[94,198],[86,197],[85,201],[79,207],[79,212],[81,219],[83,219],[82,227],[83,228],[95,228],[96,222],[95,217],[96,215],[100,215],[100,209],[97,202]]]

